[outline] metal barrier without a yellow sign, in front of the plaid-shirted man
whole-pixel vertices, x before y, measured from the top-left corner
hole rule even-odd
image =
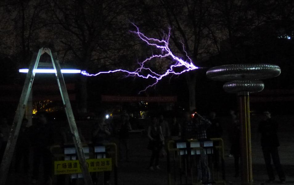
[[[168,185],[172,184],[172,175],[173,184],[225,184],[223,140],[170,140],[167,144]]]

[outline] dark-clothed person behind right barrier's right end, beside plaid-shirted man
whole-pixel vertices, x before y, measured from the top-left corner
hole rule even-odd
[[[219,120],[216,119],[215,116],[216,116],[215,112],[210,112],[209,121],[211,122],[211,125],[206,130],[207,138],[220,138],[223,135],[223,128],[220,125]],[[218,145],[219,145],[219,141],[213,141],[213,146],[218,146]],[[213,160],[214,160],[214,166],[218,168],[219,167],[219,151],[216,148],[213,149]]]

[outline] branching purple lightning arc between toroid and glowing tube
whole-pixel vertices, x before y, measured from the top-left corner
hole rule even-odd
[[[134,25],[136,26],[136,25]],[[155,39],[155,38],[148,38],[146,37],[144,34],[142,34],[139,31],[139,28],[136,26],[137,31],[131,31],[133,33],[136,33],[143,41],[145,41],[148,45],[150,46],[155,46],[158,49],[161,50],[162,54],[158,54],[158,55],[152,55],[150,58],[147,58],[146,60],[144,60],[143,62],[139,63],[140,64],[140,68],[138,68],[137,70],[131,72],[131,71],[127,71],[127,70],[122,70],[122,69],[117,69],[117,70],[110,70],[110,71],[102,71],[99,72],[97,74],[89,74],[86,73],[86,71],[81,71],[82,74],[87,75],[87,76],[97,76],[99,74],[104,74],[104,73],[114,73],[114,72],[118,72],[118,71],[122,71],[122,72],[126,72],[129,75],[128,76],[138,76],[138,77],[142,77],[142,78],[154,78],[156,79],[156,82],[154,82],[152,85],[149,85],[148,87],[146,87],[146,89],[148,89],[149,87],[154,86],[159,80],[161,80],[163,77],[169,75],[169,74],[182,74],[186,71],[190,71],[190,70],[194,70],[194,69],[198,69],[199,67],[196,67],[193,65],[192,60],[189,58],[189,56],[186,53],[186,57],[188,58],[188,61],[184,61],[181,58],[178,58],[177,56],[175,56],[171,50],[169,49],[169,37],[170,37],[170,29],[169,29],[169,34],[166,36],[166,38],[163,38],[162,40],[159,39]],[[166,72],[164,74],[157,74],[155,72],[153,72],[150,68],[145,68],[144,64],[147,61],[150,61],[153,58],[164,58],[164,57],[171,57],[173,59],[173,61],[175,62],[174,65],[169,66],[169,69],[166,70]],[[178,68],[184,66],[185,68],[182,69],[180,72],[175,72],[174,68]],[[150,74],[144,75],[142,74],[142,70],[148,70]],[[145,89],[145,90],[146,90]],[[142,90],[142,91],[145,91]],[[140,92],[142,92],[140,91]]]

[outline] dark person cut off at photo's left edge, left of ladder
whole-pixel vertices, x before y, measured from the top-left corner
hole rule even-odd
[[[0,162],[2,162],[2,158],[5,153],[10,130],[11,127],[7,124],[7,119],[2,117],[0,119]]]

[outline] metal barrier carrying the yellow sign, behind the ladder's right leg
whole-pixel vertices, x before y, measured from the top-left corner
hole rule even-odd
[[[83,174],[79,168],[79,161],[76,156],[76,148],[73,144],[54,145],[50,147],[50,151],[54,156],[54,174],[57,176],[57,183],[63,184],[66,176],[70,179],[71,184],[79,184],[79,179],[83,178]],[[83,144],[83,151],[91,172],[93,184],[98,183],[98,172],[105,173],[114,172],[114,185],[117,185],[117,147],[115,143],[101,143],[95,145],[92,143]],[[101,184],[101,183],[100,183]],[[104,185],[104,179],[102,180]]]

